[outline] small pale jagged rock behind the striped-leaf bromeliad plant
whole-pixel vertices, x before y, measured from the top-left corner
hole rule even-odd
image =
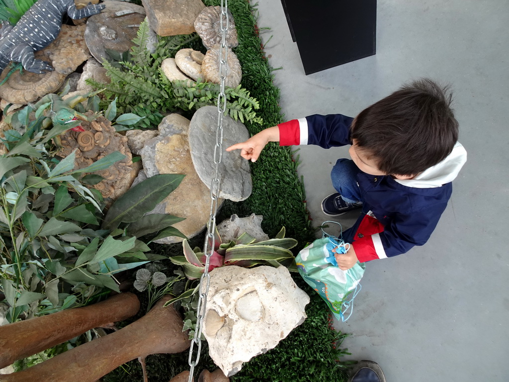
[[[230,219],[223,220],[217,226],[217,231],[223,242],[230,242],[244,232],[254,237],[257,242],[268,240],[269,235],[262,230],[262,220],[263,215],[255,215],[254,213],[247,217],[239,217],[234,214]]]

